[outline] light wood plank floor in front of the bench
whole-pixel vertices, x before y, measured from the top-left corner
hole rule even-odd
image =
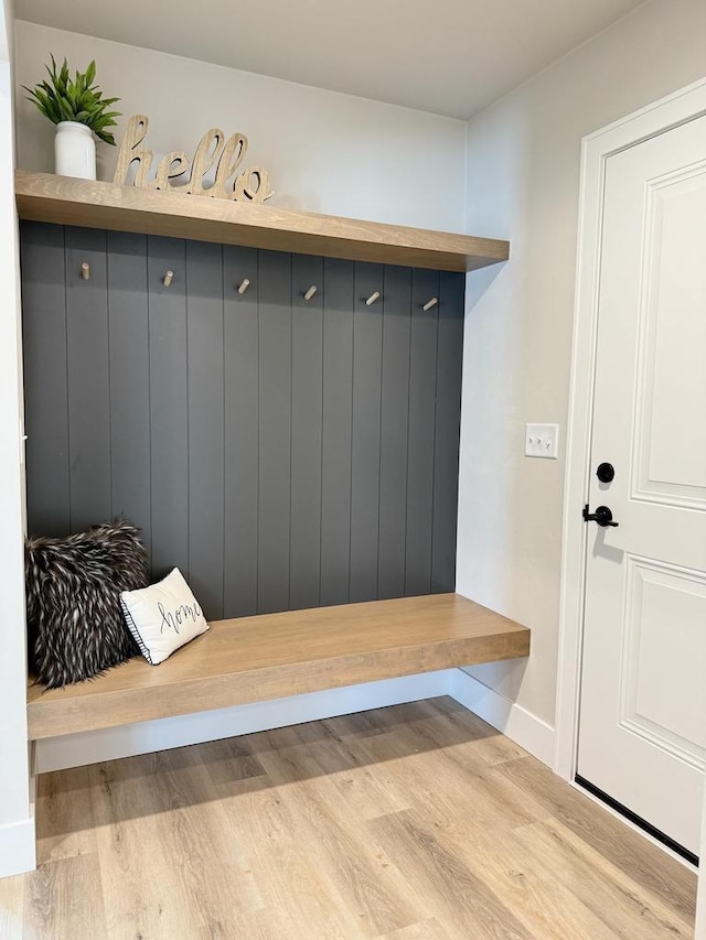
[[[449,699],[40,778],[2,940],[692,938],[696,878]]]

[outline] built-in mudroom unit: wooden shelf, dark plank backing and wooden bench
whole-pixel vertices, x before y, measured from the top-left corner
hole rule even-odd
[[[232,611],[344,597],[343,580],[359,596],[453,584],[463,274],[506,241],[44,173],[15,185],[31,529],[109,518],[118,493],[156,564],[189,559],[216,609],[224,570],[244,572]],[[30,681],[29,737],[528,651],[525,627],[451,593],[217,620],[158,667]]]

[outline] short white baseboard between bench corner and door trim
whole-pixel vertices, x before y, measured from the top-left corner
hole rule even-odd
[[[522,705],[505,699],[462,669],[449,671],[449,695],[479,717],[501,731],[515,744],[552,767],[554,728]]]

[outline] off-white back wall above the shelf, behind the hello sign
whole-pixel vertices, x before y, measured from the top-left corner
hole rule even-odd
[[[116,107],[150,119],[145,145],[156,152],[191,155],[211,127],[243,131],[246,162],[270,171],[272,205],[463,229],[461,121],[32,23],[15,32],[18,84],[35,85],[50,52],[74,68],[95,58],[101,88],[122,99]],[[22,96],[19,165],[53,172],[52,139],[53,126]],[[99,179],[113,179],[115,148],[98,151]]]

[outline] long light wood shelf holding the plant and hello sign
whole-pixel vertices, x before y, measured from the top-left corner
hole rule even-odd
[[[20,218],[247,245],[276,251],[473,271],[509,257],[510,245],[276,206],[159,193],[50,173],[15,173]]]

